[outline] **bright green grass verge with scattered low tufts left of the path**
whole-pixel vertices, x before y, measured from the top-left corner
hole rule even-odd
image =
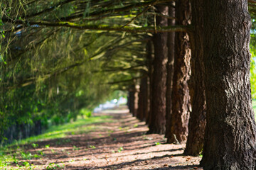
[[[50,145],[40,146],[43,147],[38,150],[36,154],[31,154],[30,152],[26,152],[26,149],[23,148],[23,145],[31,145],[33,148],[40,148],[37,144],[38,141],[42,140],[49,140],[54,139],[57,141],[62,142],[61,144],[72,142],[70,139],[63,140],[61,137],[65,137],[70,132],[74,132],[75,134],[81,134],[81,133],[87,133],[91,132],[91,130],[95,129],[95,125],[98,123],[108,123],[112,122],[112,119],[110,119],[110,116],[98,116],[98,117],[91,117],[91,118],[81,118],[78,117],[78,120],[76,122],[67,123],[64,125],[58,125],[58,126],[52,126],[50,127],[45,133],[35,136],[35,137],[29,137],[25,140],[18,141],[14,144],[7,145],[6,147],[0,148],[0,169],[10,169],[11,164],[17,164],[18,168],[20,169],[34,169],[35,167],[33,164],[26,162],[27,159],[40,159],[41,157],[44,157],[43,150],[47,149],[50,150],[52,153],[55,153],[55,150],[50,148]],[[91,149],[95,149],[96,147],[94,145],[88,146]],[[73,151],[79,150],[79,147],[73,146]],[[122,151],[122,147],[119,148],[120,151]],[[64,152],[65,150],[63,150]],[[11,153],[11,154],[10,154]],[[66,152],[69,154],[69,152]],[[18,160],[18,159],[20,160]],[[21,160],[24,159],[24,160]],[[70,160],[70,162],[74,162],[74,160]],[[46,169],[64,169],[64,164],[48,164],[46,166]]]

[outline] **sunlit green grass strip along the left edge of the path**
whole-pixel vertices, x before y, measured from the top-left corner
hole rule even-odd
[[[64,125],[53,125],[51,126],[46,132],[43,132],[43,134],[38,135],[38,136],[33,136],[33,137],[28,137],[24,140],[14,142],[10,145],[7,145],[5,147],[0,148],[0,169],[8,169],[8,166],[10,163],[20,163],[21,161],[16,159],[17,156],[23,157],[23,159],[30,159],[31,157],[41,157],[43,155],[42,153],[38,153],[35,155],[32,155],[29,152],[25,152],[23,148],[20,147],[20,145],[26,145],[26,144],[31,144],[32,147],[36,148],[38,145],[36,142],[38,141],[43,141],[43,140],[54,140],[54,139],[61,139],[62,137],[65,137],[67,135],[76,135],[76,134],[82,134],[82,133],[87,133],[87,132],[92,132],[93,130],[96,130],[97,125],[100,123],[110,123],[113,120],[111,119],[111,116],[108,115],[102,115],[102,116],[95,116],[95,117],[90,117],[90,118],[78,118],[77,121],[72,122],[72,123],[66,123]],[[46,145],[47,147],[48,145]],[[11,147],[15,147],[16,149],[15,152],[14,150],[11,149]],[[79,149],[77,147],[74,147],[74,149]],[[8,154],[8,153],[12,154]],[[29,168],[31,169],[31,164],[24,164],[22,167],[19,167],[21,169],[23,168]],[[52,167],[54,166],[54,167]],[[58,166],[58,165],[56,165]],[[19,169],[18,168],[18,169]],[[55,165],[51,164],[48,166],[48,169],[55,169]],[[59,167],[57,167],[59,168]]]

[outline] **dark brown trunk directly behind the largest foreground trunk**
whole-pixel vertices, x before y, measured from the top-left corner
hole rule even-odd
[[[191,94],[192,112],[188,123],[188,140],[184,154],[198,156],[203,149],[203,136],[206,127],[206,95],[203,64],[203,0],[192,2],[191,39]]]

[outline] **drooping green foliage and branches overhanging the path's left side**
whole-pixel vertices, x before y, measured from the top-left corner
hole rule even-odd
[[[75,121],[80,115],[90,118],[95,106],[125,96],[122,91],[146,71],[142,49],[144,39],[151,35],[95,30],[93,26],[150,25],[151,14],[142,11],[152,3],[1,1],[1,144],[25,137],[23,129],[36,135],[52,125]],[[67,24],[93,29],[75,30],[66,28]],[[15,132],[9,132],[13,129]]]

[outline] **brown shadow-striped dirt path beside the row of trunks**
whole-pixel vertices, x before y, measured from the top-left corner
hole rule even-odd
[[[94,113],[95,121],[60,126],[44,140],[9,147],[3,169],[202,169],[201,157],[183,156],[185,145],[166,144],[126,108]],[[90,118],[88,118],[90,119]]]

